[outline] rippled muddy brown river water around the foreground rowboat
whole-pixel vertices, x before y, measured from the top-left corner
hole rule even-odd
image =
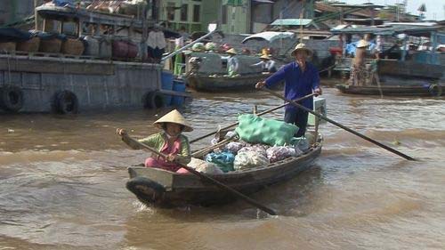
[[[64,117],[0,117],[0,249],[445,249],[445,99],[352,97],[325,88],[328,117],[381,141],[408,161],[322,124],[310,171],[242,201],[153,209],[125,190],[142,137],[169,109]],[[181,109],[190,139],[278,106],[267,93],[197,93]],[[269,117],[282,117],[276,111]],[[208,140],[192,144],[205,146]]]

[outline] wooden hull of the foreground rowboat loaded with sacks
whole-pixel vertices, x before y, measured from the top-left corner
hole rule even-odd
[[[323,138],[321,135],[317,138],[317,142],[299,157],[288,157],[270,165],[242,171],[208,175],[245,195],[254,193],[309,169],[321,152]],[[201,180],[192,173],[173,173],[158,168],[133,166],[128,168],[128,173],[130,180],[127,181],[126,188],[142,203],[151,206],[209,206],[235,199],[231,193],[221,190],[211,182]]]

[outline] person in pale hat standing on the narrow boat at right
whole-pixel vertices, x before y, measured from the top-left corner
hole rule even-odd
[[[366,68],[365,58],[368,48],[366,40],[360,40],[355,49],[355,56],[352,59],[351,71],[349,75],[350,85],[366,85],[368,79],[368,70]]]

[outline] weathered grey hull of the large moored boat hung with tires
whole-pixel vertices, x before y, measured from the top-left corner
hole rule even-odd
[[[161,71],[141,62],[0,55],[0,91],[20,95],[14,112],[53,112],[61,92],[76,96],[80,112],[143,108],[144,97],[160,90]]]

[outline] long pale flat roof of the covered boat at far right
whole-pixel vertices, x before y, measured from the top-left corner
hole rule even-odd
[[[385,23],[379,26],[364,26],[357,28],[331,29],[333,34],[374,34],[393,36],[407,34],[409,36],[429,36],[431,32],[440,32],[444,26],[437,23]]]

